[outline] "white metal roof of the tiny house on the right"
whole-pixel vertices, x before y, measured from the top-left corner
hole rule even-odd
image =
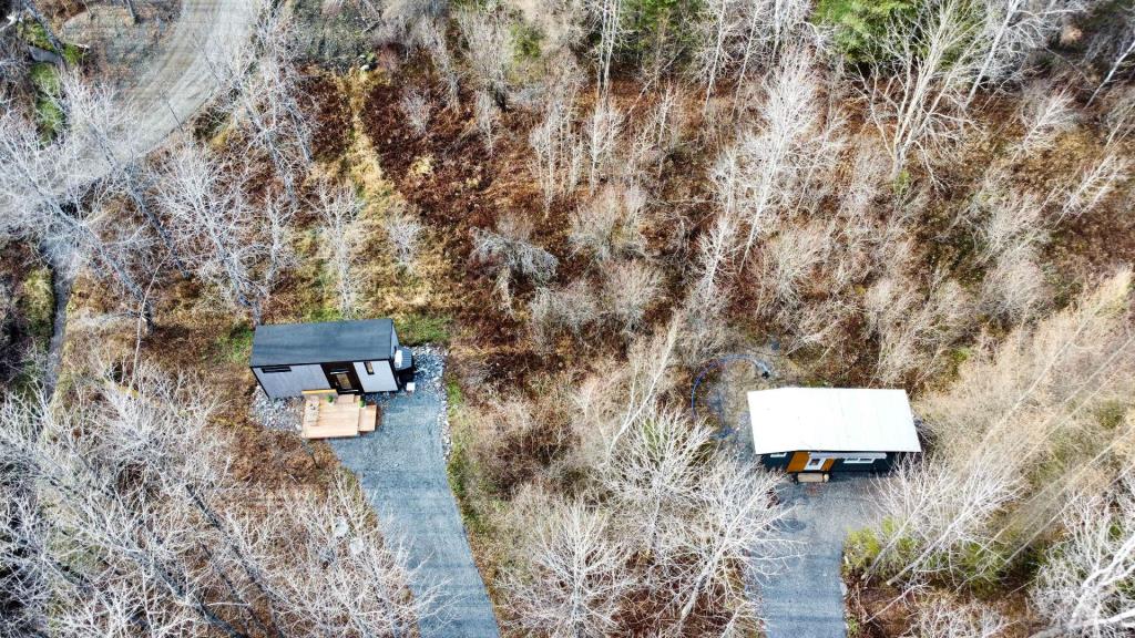
[[[922,452],[903,389],[789,387],[749,393],[757,454]]]

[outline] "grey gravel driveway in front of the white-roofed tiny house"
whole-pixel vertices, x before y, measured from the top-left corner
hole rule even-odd
[[[775,576],[758,582],[768,638],[842,638],[843,579],[840,564],[849,531],[872,524],[877,515],[874,480],[833,476],[831,482],[788,482],[779,490],[792,507],[783,536],[799,554]]]

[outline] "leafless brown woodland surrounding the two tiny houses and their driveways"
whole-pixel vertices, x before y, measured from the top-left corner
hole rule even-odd
[[[385,316],[447,351],[510,636],[760,635],[785,479],[689,410],[730,353],[914,400],[852,636],[1135,630],[1129,1],[263,2],[154,150],[60,35],[99,3],[7,5],[0,636],[414,635],[246,368],[261,322]]]

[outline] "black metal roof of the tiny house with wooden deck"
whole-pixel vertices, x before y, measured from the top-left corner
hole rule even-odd
[[[390,358],[394,321],[323,321],[260,326],[252,337],[252,367],[300,366]]]

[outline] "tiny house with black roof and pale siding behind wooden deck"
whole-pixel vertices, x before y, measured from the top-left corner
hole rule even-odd
[[[271,398],[397,392],[413,381],[414,369],[390,319],[259,326],[249,367]]]

